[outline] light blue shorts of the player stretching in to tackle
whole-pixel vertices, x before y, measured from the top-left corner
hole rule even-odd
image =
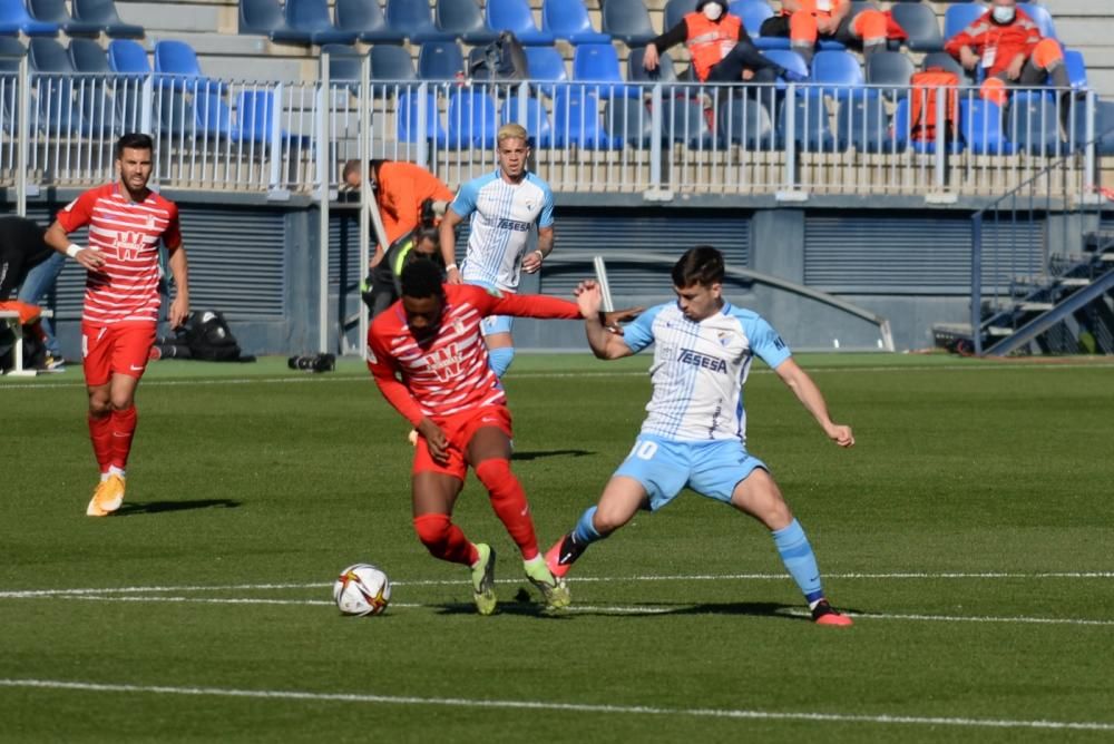
[[[701,496],[730,503],[735,487],[755,468],[769,470],[735,440],[678,442],[642,434],[615,474],[642,483],[649,496],[651,511],[657,511],[686,486]]]

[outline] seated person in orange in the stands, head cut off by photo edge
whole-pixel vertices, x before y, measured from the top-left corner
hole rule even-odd
[[[818,39],[862,43],[869,57],[886,49],[886,16],[867,8],[851,18],[851,0],[781,0],[781,14],[762,23],[762,36],[789,37],[793,51],[812,66]]]

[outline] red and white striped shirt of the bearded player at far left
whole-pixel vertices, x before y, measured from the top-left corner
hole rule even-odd
[[[182,245],[178,207],[155,192],[133,202],[119,184],[106,184],[76,198],[58,213],[67,233],[89,226],[89,247],[105,266],[85,282],[85,313],[92,325],[158,321],[158,242]]]

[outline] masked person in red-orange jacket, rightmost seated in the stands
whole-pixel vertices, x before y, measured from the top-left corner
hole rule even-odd
[[[1016,0],[994,0],[989,10],[949,39],[944,49],[968,70],[983,66],[983,98],[998,106],[1006,102],[1010,82],[1043,85],[1051,75],[1058,87],[1072,85],[1059,42],[1042,38],[1039,27]]]

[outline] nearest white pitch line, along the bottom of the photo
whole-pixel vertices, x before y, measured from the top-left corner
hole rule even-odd
[[[888,726],[955,726],[961,728],[1028,728],[1045,731],[1114,732],[1114,723],[1100,721],[1047,721],[1008,718],[961,718],[912,715],[858,715],[810,711],[759,711],[732,708],[683,708],[649,705],[608,705],[599,703],[560,703],[553,701],[485,699],[466,697],[418,697],[367,693],[314,693],[283,689],[236,689],[226,687],[172,687],[164,685],[104,684],[63,679],[0,678],[0,687],[55,689],[85,693],[134,693],[197,697],[240,697],[255,699],[362,703],[367,705],[405,705],[450,708],[510,711],[556,711],[627,716],[686,716],[693,718],[733,718],[759,721],[804,721],[811,723],[874,724]]]

